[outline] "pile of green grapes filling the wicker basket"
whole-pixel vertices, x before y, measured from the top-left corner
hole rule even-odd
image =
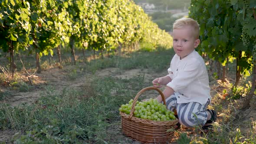
[[[130,114],[133,99],[128,104],[121,105],[119,111]],[[166,105],[150,98],[148,101],[136,101],[134,116],[153,121],[172,121],[175,120],[174,112],[166,108]]]

